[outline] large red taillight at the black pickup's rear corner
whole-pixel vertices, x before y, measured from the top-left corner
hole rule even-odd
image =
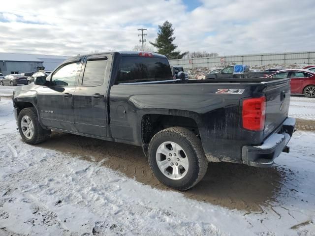
[[[243,101],[243,128],[263,130],[266,118],[266,97],[249,98]]]

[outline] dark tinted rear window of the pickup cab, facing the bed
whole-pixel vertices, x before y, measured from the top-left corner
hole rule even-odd
[[[167,59],[122,57],[115,84],[172,80]]]

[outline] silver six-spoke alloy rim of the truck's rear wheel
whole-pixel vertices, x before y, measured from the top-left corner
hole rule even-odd
[[[181,179],[188,172],[188,156],[184,149],[174,142],[164,142],[158,146],[156,159],[158,169],[170,179]]]

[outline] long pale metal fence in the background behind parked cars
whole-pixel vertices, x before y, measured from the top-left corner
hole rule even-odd
[[[170,65],[181,65],[184,68],[224,67],[230,64],[246,64],[250,66],[268,64],[315,64],[315,51],[294,53],[264,53],[235,56],[218,56],[212,58],[173,59]]]

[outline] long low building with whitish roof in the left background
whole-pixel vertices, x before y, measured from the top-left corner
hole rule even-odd
[[[38,69],[53,70],[65,59],[65,56],[0,53],[0,72],[3,75],[36,72]]]

